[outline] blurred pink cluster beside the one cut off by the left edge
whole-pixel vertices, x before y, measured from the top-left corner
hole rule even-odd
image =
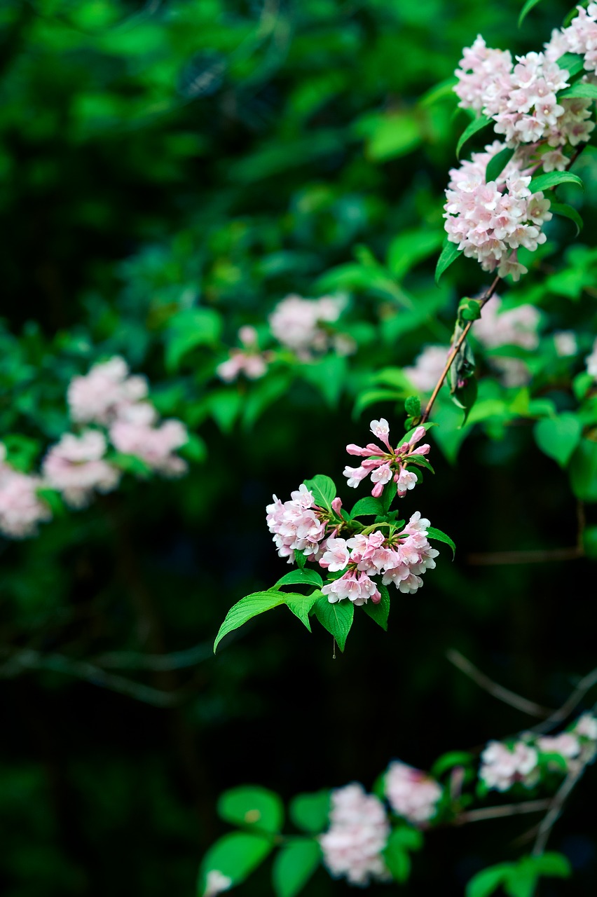
[[[98,430],[85,430],[81,436],[65,436],[49,449],[42,472],[49,486],[62,492],[73,508],[89,504],[94,491],[111,492],[120,481],[120,472],[103,459],[106,439]]]

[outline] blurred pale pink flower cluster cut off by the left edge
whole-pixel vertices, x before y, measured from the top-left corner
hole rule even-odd
[[[0,443],[0,532],[13,539],[34,536],[38,524],[52,516],[38,495],[43,483],[38,476],[15,470],[5,458],[6,448]]]

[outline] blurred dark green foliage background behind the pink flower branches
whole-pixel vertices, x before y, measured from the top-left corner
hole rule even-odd
[[[281,611],[211,653],[229,606],[286,571],[264,527],[272,492],[337,477],[369,411],[401,425],[402,367],[447,344],[460,297],[487,285],[466,259],[434,284],[468,123],[435,88],[478,32],[525,52],[568,8],[544,0],[517,30],[521,5],[0,6],[0,431],[12,463],[39,463],[67,426],[69,379],[113,353],[148,374],[160,413],[199,435],[204,458],[180,481],[127,480],[38,538],[0,544],[6,897],[194,894],[225,789],[370,787],[394,756],[424,767],[529,724],[453,670],[450,647],[553,706],[594,665],[588,562],[549,559],[576,544],[575,496],[597,500],[591,148],[575,168],[584,194],[558,190],[584,231],[573,245],[571,222],[551,222],[506,297],[541,309],[541,349],[523,353],[532,388],[484,376],[466,427],[449,399],[434,415],[445,457],[434,447],[437,475],[418,498],[454,536],[454,564],[444,553],[420,597],[394,597],[389,635],[362,625],[335,661],[322,631]],[[281,351],[264,379],[221,383],[238,327],[272,349],[267,316],[295,292],[345,294],[357,353],[307,363]],[[557,330],[575,331],[571,357],[558,357]],[[583,513],[594,554],[594,505]],[[512,550],[546,562],[491,564]],[[594,771],[586,779],[588,792]],[[511,841],[528,827],[435,834],[403,892],[462,894],[481,868],[518,857]],[[575,795],[553,849],[579,895],[593,893],[596,834],[592,798]],[[269,875],[238,893],[266,893]],[[309,884],[313,897],[346,890],[322,872]]]

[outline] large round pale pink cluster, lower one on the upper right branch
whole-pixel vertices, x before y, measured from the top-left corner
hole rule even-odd
[[[544,243],[541,225],[552,215],[549,199],[529,189],[531,175],[523,159],[513,157],[497,180],[486,182],[488,162],[502,149],[496,141],[450,171],[444,217],[448,239],[465,256],[476,258],[484,271],[497,268],[500,277],[512,274],[516,281],[527,271],[518,261],[518,248],[534,251]]]

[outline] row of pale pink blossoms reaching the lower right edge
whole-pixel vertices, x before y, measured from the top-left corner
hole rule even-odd
[[[557,736],[527,734],[514,743],[490,741],[481,753],[479,778],[487,788],[507,791],[516,782],[532,788],[548,769],[574,770],[597,753],[597,718],[584,713]]]

